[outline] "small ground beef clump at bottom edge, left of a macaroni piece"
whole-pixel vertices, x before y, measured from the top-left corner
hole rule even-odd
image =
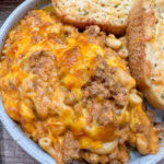
[[[79,151],[79,142],[74,139],[73,133],[71,131],[68,131],[63,138],[63,162],[68,164],[71,163],[73,159],[80,159]]]

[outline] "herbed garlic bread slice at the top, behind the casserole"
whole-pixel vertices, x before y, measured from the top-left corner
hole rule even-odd
[[[99,25],[116,35],[126,32],[133,0],[52,0],[58,17],[78,27]]]

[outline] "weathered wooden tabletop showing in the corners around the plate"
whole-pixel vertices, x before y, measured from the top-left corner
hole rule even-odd
[[[24,0],[0,0],[0,26]],[[0,164],[38,164],[9,136],[0,122]],[[159,164],[164,164],[164,160]]]

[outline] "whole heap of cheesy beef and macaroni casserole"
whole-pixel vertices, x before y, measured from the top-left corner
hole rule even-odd
[[[136,90],[128,54],[122,59],[112,48],[122,55],[126,38],[98,26],[79,32],[44,10],[9,33],[0,59],[4,108],[58,164],[128,163],[129,145],[159,152],[160,130]]]

